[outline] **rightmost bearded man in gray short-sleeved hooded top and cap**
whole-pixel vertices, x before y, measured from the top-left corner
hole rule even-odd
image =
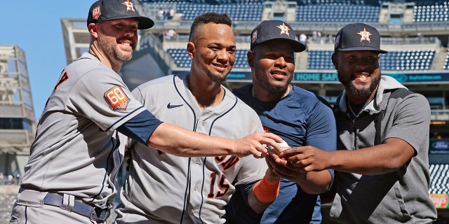
[[[330,218],[338,223],[433,223],[429,198],[430,106],[422,94],[382,76],[380,34],[363,23],[335,36],[337,151],[291,148],[276,160],[303,172],[335,170]]]

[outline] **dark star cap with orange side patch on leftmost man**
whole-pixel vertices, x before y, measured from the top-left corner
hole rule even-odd
[[[139,21],[138,29],[148,29],[154,26],[154,21],[140,16],[135,5],[130,0],[100,0],[95,1],[89,9],[87,25],[105,20],[135,18]]]

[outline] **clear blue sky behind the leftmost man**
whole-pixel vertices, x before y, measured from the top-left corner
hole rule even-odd
[[[95,0],[0,1],[0,45],[18,45],[25,51],[38,120],[67,65],[60,19],[87,18]]]

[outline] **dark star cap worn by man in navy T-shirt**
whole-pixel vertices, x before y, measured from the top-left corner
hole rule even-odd
[[[253,50],[255,45],[275,39],[290,41],[295,52],[306,50],[306,46],[296,40],[292,27],[281,20],[264,20],[257,25],[251,32],[250,49]]]

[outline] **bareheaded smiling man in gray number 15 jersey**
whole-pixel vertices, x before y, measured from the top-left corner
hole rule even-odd
[[[236,60],[231,25],[226,14],[196,17],[187,43],[190,71],[150,80],[133,90],[134,97],[165,123],[204,136],[238,139],[263,132],[257,113],[222,85]],[[140,143],[130,144],[129,151],[116,223],[225,223],[236,185],[251,183],[245,198],[256,213],[279,192],[279,176],[253,157],[186,158]]]

